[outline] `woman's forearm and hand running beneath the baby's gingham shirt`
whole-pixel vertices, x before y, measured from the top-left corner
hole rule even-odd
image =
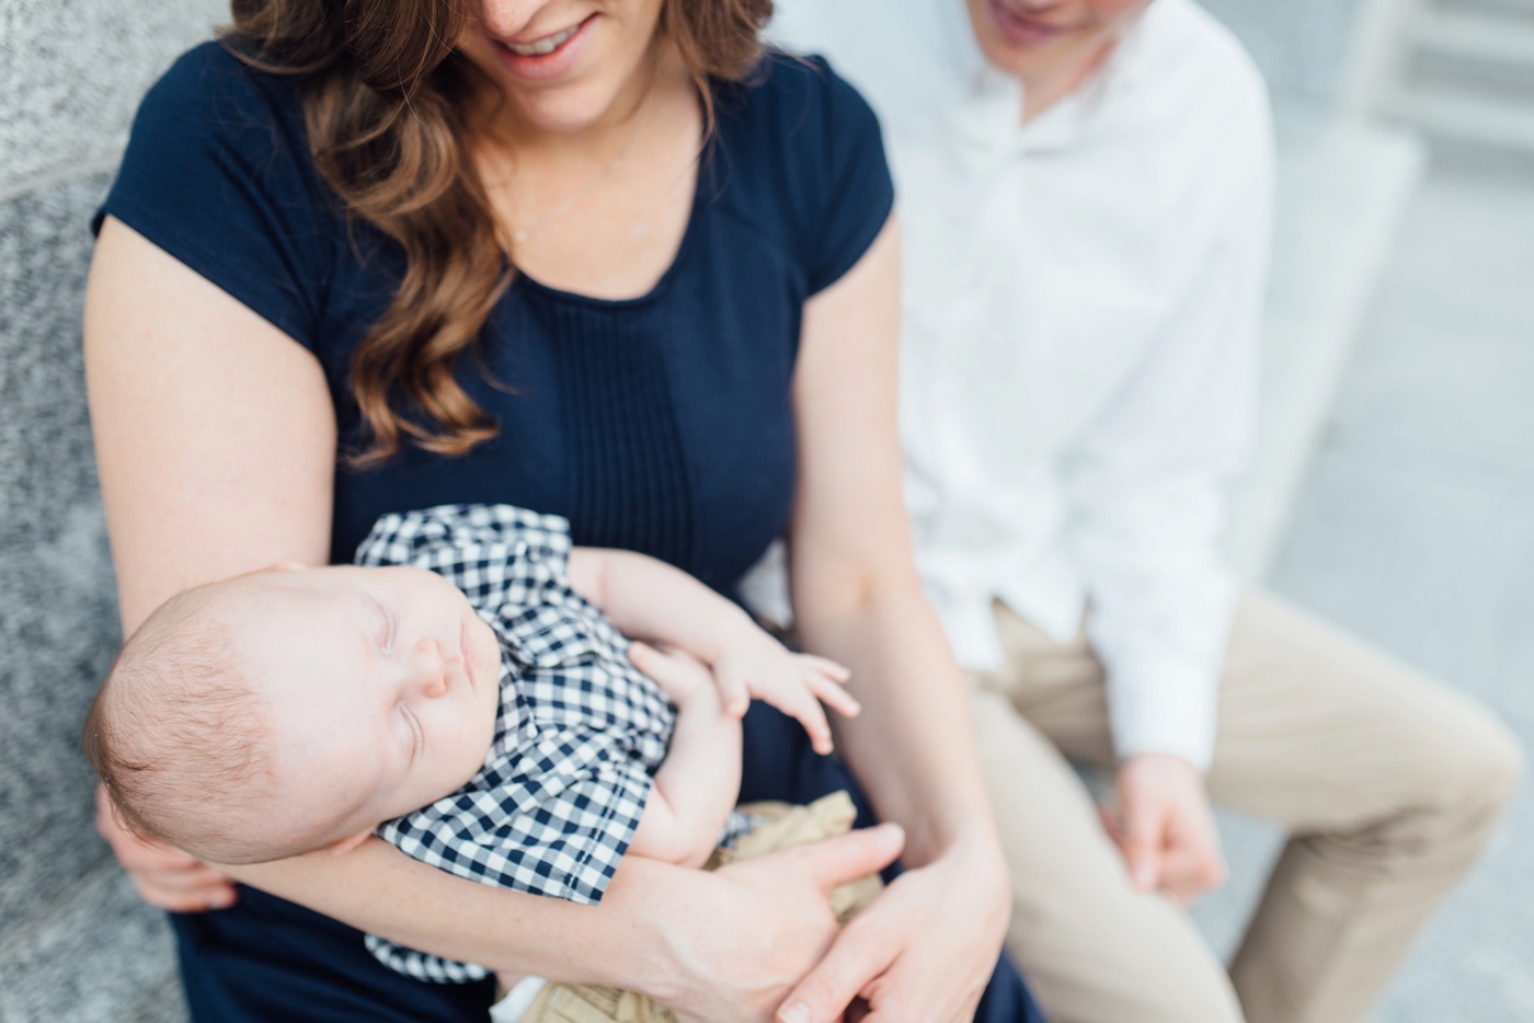
[[[436,956],[637,991],[686,1018],[765,1023],[836,937],[827,893],[897,851],[874,828],[713,873],[627,856],[600,906],[453,877],[379,839],[229,873]]]

